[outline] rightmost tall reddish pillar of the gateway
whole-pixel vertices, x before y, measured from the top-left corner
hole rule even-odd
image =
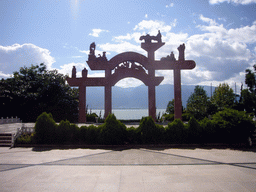
[[[180,69],[174,69],[173,75],[174,75],[174,118],[182,120]]]

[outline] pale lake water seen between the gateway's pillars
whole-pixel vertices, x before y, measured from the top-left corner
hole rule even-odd
[[[166,109],[157,109],[156,115],[159,112],[162,116]],[[98,116],[101,113],[101,117],[104,116],[104,110],[102,109],[92,109],[89,112],[96,113]],[[130,120],[130,119],[141,119],[142,117],[148,116],[148,109],[112,109],[112,113],[115,114],[116,118],[119,120]]]

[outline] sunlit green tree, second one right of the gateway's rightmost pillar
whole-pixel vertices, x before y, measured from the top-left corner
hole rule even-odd
[[[224,108],[232,108],[235,102],[234,91],[227,83],[220,84],[213,92],[211,98],[212,104],[214,104],[218,110]]]

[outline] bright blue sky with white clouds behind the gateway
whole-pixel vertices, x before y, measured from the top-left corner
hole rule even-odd
[[[0,1],[0,78],[20,67],[45,63],[71,74],[81,70],[92,42],[107,58],[125,51],[146,55],[139,37],[161,30],[165,45],[156,59],[185,43],[185,57],[197,64],[182,71],[182,84],[232,87],[244,82],[245,69],[256,64],[256,0],[26,0]],[[157,71],[162,84],[173,84],[172,71]],[[90,71],[89,76],[104,76]],[[124,79],[117,85],[141,85]]]

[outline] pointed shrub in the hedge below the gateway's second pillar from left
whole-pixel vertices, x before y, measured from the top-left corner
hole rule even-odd
[[[100,143],[105,145],[120,145],[127,141],[127,130],[114,114],[109,114],[105,123],[100,126]]]

